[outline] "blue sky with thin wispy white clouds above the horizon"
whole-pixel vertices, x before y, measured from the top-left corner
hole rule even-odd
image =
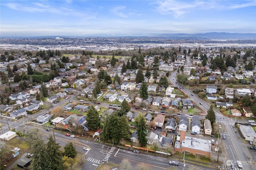
[[[0,1],[1,37],[206,32],[256,33],[256,1]]]

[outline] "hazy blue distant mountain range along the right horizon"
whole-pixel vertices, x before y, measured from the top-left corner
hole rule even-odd
[[[207,32],[204,34],[161,34],[162,38],[188,38],[203,40],[256,40],[256,34],[253,33],[228,33],[228,32]]]

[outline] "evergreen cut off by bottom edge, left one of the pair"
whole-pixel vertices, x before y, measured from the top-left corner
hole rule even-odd
[[[33,169],[45,170],[46,169],[46,148],[42,139],[37,139],[33,144]]]

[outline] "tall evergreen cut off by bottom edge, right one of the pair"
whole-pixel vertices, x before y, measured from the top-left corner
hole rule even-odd
[[[45,151],[47,154],[46,160],[45,160],[45,169],[48,170],[63,170],[63,164],[60,159],[60,156],[62,156],[62,153],[60,151],[60,145],[56,143],[50,135],[49,141],[46,144]]]

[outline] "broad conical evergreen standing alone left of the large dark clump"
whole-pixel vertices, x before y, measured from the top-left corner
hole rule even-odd
[[[86,115],[86,121],[89,128],[97,130],[100,127],[99,113],[94,107],[90,107]]]

